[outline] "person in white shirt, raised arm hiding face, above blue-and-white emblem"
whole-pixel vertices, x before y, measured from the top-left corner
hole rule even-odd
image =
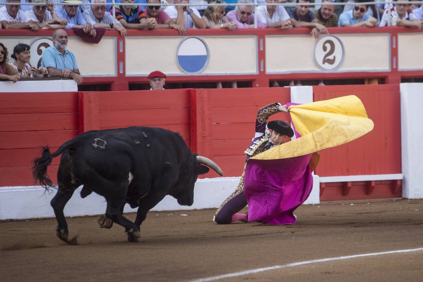
[[[176,4],[183,3],[188,4],[188,0],[175,0]],[[201,19],[201,15],[198,10],[190,6],[170,6],[165,9],[166,14],[173,19],[176,24],[184,26],[185,29],[197,27],[206,28],[206,22]]]

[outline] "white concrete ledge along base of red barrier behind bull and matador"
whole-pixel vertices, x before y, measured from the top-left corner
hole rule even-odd
[[[313,190],[305,204],[319,203],[319,176],[313,176]],[[194,204],[190,207],[179,205],[172,196],[166,196],[151,211],[193,210],[217,208],[235,190],[239,177],[199,179],[194,188]],[[80,196],[79,187],[66,204],[65,216],[84,216],[104,214],[106,201],[104,197],[92,193],[85,199]],[[46,192],[41,186],[0,187],[0,220],[27,219],[37,217],[54,217],[50,201],[55,190]],[[125,205],[124,212],[136,212],[137,208]],[[210,214],[210,220],[213,214]]]

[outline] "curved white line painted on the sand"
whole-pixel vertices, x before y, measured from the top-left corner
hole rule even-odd
[[[218,275],[218,276],[207,277],[207,278],[202,278],[202,279],[198,279],[198,280],[192,280],[191,282],[212,281],[212,280],[217,280],[217,279],[230,278],[230,277],[236,277],[236,276],[241,276],[241,275],[246,275],[246,274],[252,274],[252,273],[258,273],[258,272],[263,272],[263,271],[268,271],[268,270],[274,270],[274,269],[278,269],[278,268],[286,268],[286,267],[291,267],[291,266],[302,266],[302,265],[309,264],[309,263],[324,263],[324,262],[331,261],[331,260],[346,260],[346,259],[355,258],[355,257],[369,257],[369,256],[375,256],[375,255],[389,255],[389,254],[395,254],[395,253],[416,252],[416,251],[423,251],[423,248],[405,249],[405,250],[378,252],[378,253],[360,254],[360,255],[348,255],[348,256],[343,256],[343,257],[328,257],[328,258],[322,258],[322,259],[319,259],[319,260],[306,260],[306,261],[300,261],[298,263],[288,263],[288,264],[284,264],[284,265],[281,265],[281,266],[269,266],[269,267],[262,267],[262,268],[255,268],[255,269],[250,269],[250,270],[245,270],[245,271],[233,272],[233,273],[228,273],[228,274],[222,274],[222,275]]]

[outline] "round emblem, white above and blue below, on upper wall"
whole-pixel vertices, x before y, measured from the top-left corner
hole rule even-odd
[[[185,73],[201,73],[209,63],[209,47],[201,38],[184,38],[176,51],[176,60]]]

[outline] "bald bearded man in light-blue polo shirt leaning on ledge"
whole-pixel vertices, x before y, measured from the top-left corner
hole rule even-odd
[[[83,79],[80,75],[75,55],[66,49],[68,47],[66,30],[55,30],[52,41],[53,46],[48,47],[43,52],[41,66],[47,68],[50,77],[70,77],[78,84],[81,84]]]

